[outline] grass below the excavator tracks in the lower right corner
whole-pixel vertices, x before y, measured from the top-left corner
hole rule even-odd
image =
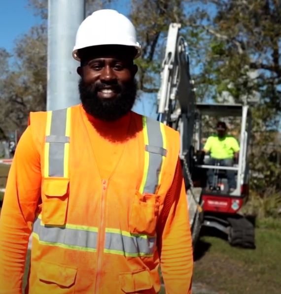
[[[267,226],[256,229],[255,250],[231,247],[214,236],[201,237],[195,252],[194,283],[219,294],[280,293],[281,222],[275,229]]]

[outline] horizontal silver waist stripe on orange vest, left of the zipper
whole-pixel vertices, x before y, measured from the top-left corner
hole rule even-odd
[[[37,218],[33,225],[33,232],[37,234],[40,243],[47,243],[47,245],[77,250],[97,248],[98,233],[96,231],[45,226]]]

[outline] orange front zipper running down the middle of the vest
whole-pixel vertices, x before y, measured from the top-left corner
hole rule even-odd
[[[102,256],[105,243],[105,195],[107,188],[107,180],[102,180],[102,203],[101,203],[101,223],[98,235],[98,248],[97,248],[97,276],[95,285],[95,294],[99,292],[101,269],[102,269]]]

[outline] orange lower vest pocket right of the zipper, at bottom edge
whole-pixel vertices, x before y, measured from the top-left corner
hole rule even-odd
[[[124,293],[145,293],[145,290],[151,290],[153,287],[148,269],[120,273],[119,285]]]

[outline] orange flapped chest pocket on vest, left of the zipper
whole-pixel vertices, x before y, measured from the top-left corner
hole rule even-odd
[[[42,185],[42,222],[63,226],[69,202],[69,179],[44,178]]]

